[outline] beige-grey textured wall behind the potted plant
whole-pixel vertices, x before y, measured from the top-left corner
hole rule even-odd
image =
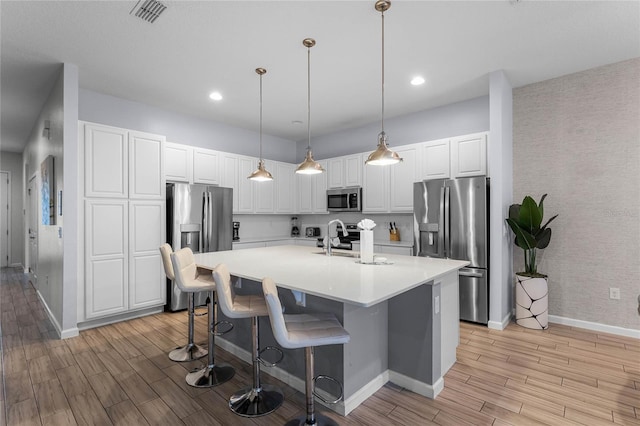
[[[548,193],[545,216],[560,215],[539,256],[549,314],[640,330],[640,58],[513,95],[513,199]]]

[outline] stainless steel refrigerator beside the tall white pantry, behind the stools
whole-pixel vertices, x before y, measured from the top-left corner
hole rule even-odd
[[[167,184],[167,242],[194,253],[231,250],[233,189],[186,183]],[[196,306],[207,293],[196,293]],[[167,280],[167,310],[187,308],[187,294]]]

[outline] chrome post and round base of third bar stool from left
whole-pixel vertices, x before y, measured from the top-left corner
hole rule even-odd
[[[275,411],[284,402],[284,395],[279,388],[260,383],[259,339],[258,317],[252,317],[251,358],[253,361],[253,387],[241,389],[229,399],[231,411],[243,417],[264,416]]]

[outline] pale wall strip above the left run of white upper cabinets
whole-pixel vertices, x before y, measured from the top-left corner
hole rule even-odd
[[[259,156],[258,132],[84,89],[79,97],[80,120],[164,135],[169,142]],[[262,135],[263,156],[270,160],[295,163],[294,145],[287,139]]]

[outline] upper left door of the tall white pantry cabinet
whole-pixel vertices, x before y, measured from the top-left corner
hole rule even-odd
[[[87,197],[127,198],[127,130],[85,124],[84,167]]]

